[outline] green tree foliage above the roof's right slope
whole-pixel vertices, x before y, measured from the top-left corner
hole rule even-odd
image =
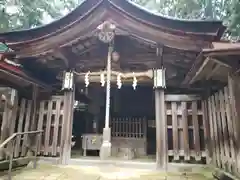
[[[182,19],[223,20],[231,38],[240,36],[239,0],[132,0],[154,12]]]

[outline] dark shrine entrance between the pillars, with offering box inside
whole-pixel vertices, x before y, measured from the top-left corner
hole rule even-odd
[[[134,89],[125,85],[118,89],[112,85],[110,127],[113,157],[146,157],[147,119],[154,118],[152,95],[150,86],[139,85]],[[104,88],[97,86],[89,86],[87,93],[80,95],[73,116],[72,158],[99,156],[105,126],[105,96]]]

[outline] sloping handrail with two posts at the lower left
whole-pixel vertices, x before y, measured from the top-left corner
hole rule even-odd
[[[29,143],[26,143],[25,146],[28,150],[34,153],[35,160],[34,160],[33,168],[36,169],[37,154],[40,147],[40,136],[42,133],[43,133],[43,130],[14,133],[9,138],[7,138],[2,144],[0,144],[0,151],[3,150],[5,154],[9,157],[8,180],[12,179],[11,172],[12,172],[12,164],[13,164],[14,149],[15,149],[16,141],[20,141],[22,135],[28,137],[30,141],[28,141]],[[35,138],[32,138],[31,135],[35,136]]]

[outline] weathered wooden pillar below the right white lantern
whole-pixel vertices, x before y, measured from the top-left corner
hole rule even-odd
[[[167,123],[165,112],[164,89],[155,89],[155,117],[156,117],[156,163],[157,168],[167,169]]]

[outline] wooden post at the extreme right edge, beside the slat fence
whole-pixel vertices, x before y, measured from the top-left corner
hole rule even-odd
[[[228,76],[228,89],[229,89],[229,101],[230,101],[230,112],[232,116],[232,125],[233,125],[233,144],[234,144],[234,151],[235,151],[235,163],[236,163],[236,170],[240,173],[240,78],[236,75],[229,75]],[[231,137],[230,137],[231,138]]]

